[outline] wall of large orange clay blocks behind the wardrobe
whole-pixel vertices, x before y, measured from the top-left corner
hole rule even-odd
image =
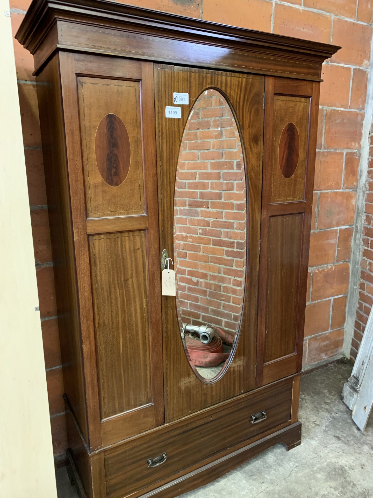
[[[10,0],[15,33],[30,0]],[[373,0],[128,0],[246,28],[332,42],[323,66],[304,365],[342,350]],[[33,58],[14,41],[55,454],[66,449],[63,381]],[[316,313],[315,313],[316,312]]]

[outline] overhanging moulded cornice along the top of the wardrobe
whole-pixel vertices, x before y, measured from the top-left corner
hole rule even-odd
[[[316,81],[340,48],[101,0],[33,0],[16,38],[36,70],[58,46]]]

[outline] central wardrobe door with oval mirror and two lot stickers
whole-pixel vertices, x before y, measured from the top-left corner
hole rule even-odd
[[[154,71],[160,250],[176,271],[162,297],[169,422],[255,386],[264,77]],[[206,324],[207,353],[193,332]]]

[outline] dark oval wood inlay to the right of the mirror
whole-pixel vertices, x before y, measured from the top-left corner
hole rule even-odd
[[[287,123],[282,130],[279,143],[279,164],[281,173],[290,178],[298,165],[299,133],[293,123]]]

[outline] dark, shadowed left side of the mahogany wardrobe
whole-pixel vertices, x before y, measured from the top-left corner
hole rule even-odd
[[[58,55],[36,78],[65,392],[88,443],[76,262]],[[51,125],[53,123],[53,125]],[[70,437],[69,437],[70,440]]]

